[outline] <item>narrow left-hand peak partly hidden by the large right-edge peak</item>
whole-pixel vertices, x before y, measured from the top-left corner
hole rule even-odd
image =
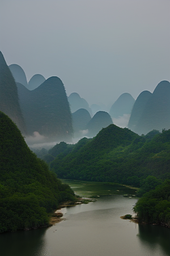
[[[144,90],[142,93],[139,94],[137,100],[135,101],[133,109],[131,110],[131,115],[128,123],[128,127],[131,131],[137,132],[137,123],[139,122],[139,119],[141,118],[143,110],[145,109],[147,101],[149,100],[151,95],[151,92],[148,92],[148,90]]]

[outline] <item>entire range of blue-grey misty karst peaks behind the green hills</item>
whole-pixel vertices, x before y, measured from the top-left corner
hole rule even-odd
[[[137,100],[123,93],[109,113],[105,105],[92,104],[78,93],[66,95],[58,77],[36,74],[29,82],[22,67],[9,67],[0,52],[0,110],[6,113],[27,136],[41,137],[41,142],[65,141],[94,137],[113,123],[112,118],[129,115],[128,128],[135,133],[170,127],[170,83],[160,82],[153,93],[143,91]]]

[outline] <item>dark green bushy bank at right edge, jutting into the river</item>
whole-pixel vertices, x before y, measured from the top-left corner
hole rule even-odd
[[[170,180],[145,193],[133,209],[139,221],[170,227]]]

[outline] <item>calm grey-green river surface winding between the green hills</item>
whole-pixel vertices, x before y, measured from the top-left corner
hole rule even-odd
[[[70,184],[79,194],[100,197],[89,204],[64,208],[64,220],[50,228],[0,234],[2,256],[170,255],[169,229],[120,218],[132,214],[137,201],[120,193],[133,191],[120,185]]]

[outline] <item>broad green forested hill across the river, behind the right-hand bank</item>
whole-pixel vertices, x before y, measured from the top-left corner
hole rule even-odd
[[[63,152],[50,163],[58,177],[138,187],[148,175],[163,180],[170,177],[170,130],[139,136],[109,125],[75,151],[81,142],[69,154]]]

